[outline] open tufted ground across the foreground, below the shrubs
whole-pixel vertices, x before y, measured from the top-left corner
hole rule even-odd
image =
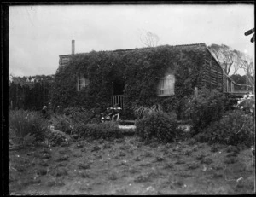
[[[10,194],[253,194],[251,150],[84,140],[9,152]]]

